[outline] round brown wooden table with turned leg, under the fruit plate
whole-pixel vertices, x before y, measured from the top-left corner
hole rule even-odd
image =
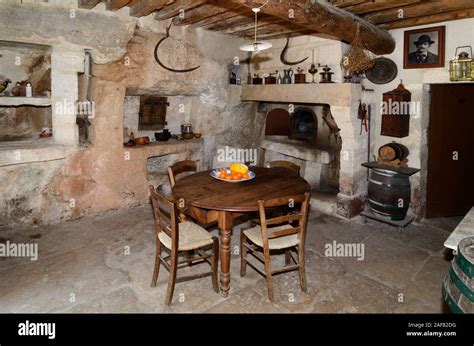
[[[204,209],[208,211],[207,218],[200,221],[218,221],[220,286],[224,297],[230,289],[230,234],[234,219],[258,211],[260,199],[294,196],[311,190],[306,180],[282,168],[252,167],[252,171],[256,174],[254,179],[236,183],[215,179],[211,171],[199,172],[178,180],[173,187],[173,196],[180,207]]]

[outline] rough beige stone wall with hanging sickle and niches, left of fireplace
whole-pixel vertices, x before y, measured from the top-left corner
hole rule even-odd
[[[51,6],[47,5],[48,8]],[[35,17],[35,21],[39,22],[49,21],[51,16],[63,11],[58,7],[54,11],[46,11],[46,14],[42,12],[43,7],[46,5],[22,5],[18,11],[26,17]],[[12,13],[10,7],[7,10],[13,17],[18,15]],[[98,22],[105,17],[106,22],[117,17],[115,20],[118,22],[111,24],[107,32],[123,23],[138,25],[135,33],[128,38],[128,43],[122,45],[121,40],[125,39],[125,35],[115,43],[100,38],[104,36],[103,23],[92,24],[89,22],[90,17],[76,17],[90,24],[85,29],[87,32],[79,37],[84,41],[79,42],[78,37],[71,38],[61,29],[50,28],[49,24],[46,27],[50,32],[44,36],[45,44],[54,45],[62,34],[61,40],[66,43],[71,41],[67,44],[63,41],[69,47],[68,51],[59,51],[56,45],[53,47],[53,82],[57,67],[56,71],[67,72],[64,77],[58,76],[58,82],[75,80],[77,84],[77,73],[80,71],[77,71],[75,64],[80,61],[81,45],[83,49],[91,49],[95,57],[96,64],[92,68],[95,117],[90,127],[91,144],[87,148],[71,147],[65,159],[0,167],[0,176],[4,178],[3,181],[8,181],[7,186],[2,185],[0,225],[54,223],[84,214],[148,203],[147,163],[150,157],[199,158],[202,166],[207,168],[216,155],[217,146],[255,147],[260,138],[263,120],[256,112],[256,104],[240,102],[240,87],[229,85],[227,80],[227,65],[234,56],[239,55],[238,47],[243,43],[242,40],[190,27],[174,27],[171,30],[172,38],[163,44],[160,57],[169,65],[177,67],[195,64],[201,67],[191,73],[170,73],[159,67],[153,58],[154,46],[163,37],[168,23],[157,22],[153,16],[137,20],[128,17],[123,11],[106,15],[101,11],[104,9],[89,12],[95,12],[91,16]],[[31,24],[25,19],[22,23],[23,26]],[[32,40],[29,29],[22,25],[15,23],[15,28],[20,32],[12,38],[16,37],[20,42]],[[85,24],[75,25],[82,28]],[[118,30],[118,33],[121,35],[125,31]],[[39,37],[36,40],[41,41],[41,32],[36,35]],[[89,36],[96,38],[87,41]],[[105,36],[109,37],[107,33]],[[112,43],[114,46],[110,47]],[[98,45],[98,49],[94,50],[93,44]],[[69,51],[73,59],[62,59],[71,57]],[[120,56],[119,52],[122,52]],[[117,57],[120,59],[117,60]],[[73,66],[68,66],[67,62],[71,61]],[[107,61],[107,64],[97,64]],[[64,93],[58,96],[77,100],[77,88],[72,91],[65,89]],[[124,101],[127,93],[170,96],[184,104],[184,115],[169,115],[172,132],[176,132],[182,122],[192,122],[203,133],[202,139],[124,148]],[[53,104],[61,100],[53,100]],[[58,126],[61,125],[59,123]],[[74,137],[76,134],[69,133],[67,136],[72,136],[77,143]],[[166,164],[168,161],[162,160]],[[165,169],[162,167],[161,172]],[[160,168],[152,164],[152,171],[159,173]],[[38,178],[32,179],[30,174]]]

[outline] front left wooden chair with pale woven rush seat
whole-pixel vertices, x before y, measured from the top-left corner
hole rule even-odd
[[[217,283],[217,266],[219,260],[219,243],[216,237],[212,237],[201,226],[184,221],[178,223],[176,204],[168,200],[165,196],[157,193],[153,185],[150,185],[151,204],[156,228],[156,258],[155,268],[151,286],[155,287],[160,271],[160,264],[168,270],[168,289],[166,293],[166,304],[170,305],[173,299],[174,286],[176,282],[212,276],[212,286],[219,292]],[[162,256],[162,247],[170,251],[170,255]],[[203,251],[203,248],[211,246],[211,253]],[[192,256],[189,253],[192,251]],[[185,259],[179,261],[178,255],[186,252]],[[187,264],[198,264],[207,262],[211,266],[211,271],[195,275],[176,277],[177,269]]]

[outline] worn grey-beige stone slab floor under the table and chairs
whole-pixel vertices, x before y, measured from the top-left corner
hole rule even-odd
[[[239,276],[232,235],[231,291],[210,277],[176,285],[164,304],[168,274],[150,287],[155,235],[149,206],[56,226],[0,230],[0,242],[38,243],[39,258],[0,257],[0,312],[442,312],[441,281],[450,265],[443,242],[461,218],[441,218],[398,231],[376,221],[311,212],[303,293],[295,272],[274,277],[275,302],[251,268]],[[364,245],[364,258],[326,256],[327,244]],[[275,262],[283,261],[276,256]],[[201,265],[202,266],[202,265]],[[186,271],[207,268],[195,266]],[[178,272],[183,273],[183,271]]]

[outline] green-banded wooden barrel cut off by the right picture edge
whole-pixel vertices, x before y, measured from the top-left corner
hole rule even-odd
[[[474,237],[459,242],[443,283],[443,299],[454,313],[474,313]]]

